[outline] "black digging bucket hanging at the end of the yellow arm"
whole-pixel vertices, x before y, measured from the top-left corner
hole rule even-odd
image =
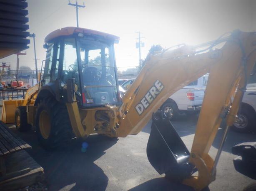
[[[147,155],[151,165],[159,174],[181,181],[195,171],[188,162],[190,153],[172,123],[162,118],[160,112],[153,114]]]

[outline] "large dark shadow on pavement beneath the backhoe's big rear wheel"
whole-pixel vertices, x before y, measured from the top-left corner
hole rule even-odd
[[[90,135],[86,142],[88,149],[81,151],[82,142],[73,139],[69,147],[55,149],[52,152],[38,145],[35,132],[21,133],[11,128],[33,149],[28,153],[45,169],[45,181],[50,191],[104,191],[108,185],[108,177],[94,161],[105,154],[117,140],[100,135]]]

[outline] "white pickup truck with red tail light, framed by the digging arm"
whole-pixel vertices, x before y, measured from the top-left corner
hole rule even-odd
[[[181,113],[200,111],[208,81],[208,74],[178,90],[161,106],[166,117],[178,118]]]

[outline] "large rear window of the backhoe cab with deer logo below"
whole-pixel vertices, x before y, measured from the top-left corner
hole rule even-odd
[[[113,48],[100,42],[81,39],[80,56],[86,104],[117,103]]]

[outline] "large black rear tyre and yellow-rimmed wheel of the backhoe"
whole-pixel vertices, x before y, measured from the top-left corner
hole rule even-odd
[[[55,98],[45,98],[38,104],[36,134],[45,149],[53,149],[71,139],[71,125],[66,106]]]

